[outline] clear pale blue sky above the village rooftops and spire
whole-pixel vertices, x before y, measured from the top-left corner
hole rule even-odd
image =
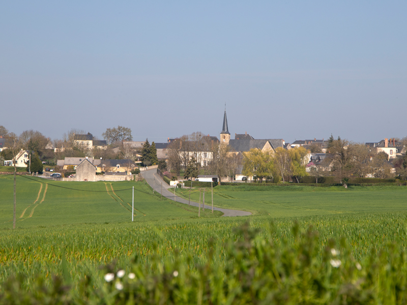
[[[0,125],[51,139],[407,136],[405,1],[4,1]]]

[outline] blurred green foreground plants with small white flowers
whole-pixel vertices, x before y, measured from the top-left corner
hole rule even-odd
[[[72,289],[63,259],[63,276],[51,287],[40,277],[29,291],[22,278],[11,277],[0,295],[2,304],[354,304],[407,302],[406,253],[396,243],[380,251],[372,249],[357,261],[351,246],[329,240],[321,251],[318,232],[292,227],[288,238],[275,243],[275,230],[267,236],[247,223],[235,229],[236,241],[224,247],[225,263],[210,240],[208,260],[192,263],[191,254],[163,260],[153,255],[149,263],[105,267],[104,284],[88,275]],[[400,232],[402,234],[403,232]],[[405,232],[404,232],[405,233]],[[157,247],[156,245],[155,247]],[[65,267],[64,267],[65,266]],[[122,268],[121,268],[122,267]],[[94,288],[96,287],[96,288]]]

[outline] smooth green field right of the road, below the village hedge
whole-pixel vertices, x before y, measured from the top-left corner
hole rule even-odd
[[[188,198],[189,190],[178,189]],[[203,191],[202,191],[203,192]],[[206,204],[211,204],[211,189],[206,189]],[[407,211],[407,187],[257,187],[217,186],[214,206],[251,211],[253,215],[302,217],[355,212]],[[199,201],[199,189],[191,191]],[[202,200],[202,199],[201,199]]]

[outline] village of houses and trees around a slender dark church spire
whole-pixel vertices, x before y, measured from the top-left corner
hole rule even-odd
[[[354,143],[329,138],[255,139],[247,133],[231,138],[226,110],[217,135],[194,132],[165,143],[132,141],[131,130],[118,126],[99,140],[72,130],[51,141],[38,131],[19,137],[2,127],[0,166],[26,169],[33,175],[62,181],[123,181],[140,171],[157,169],[171,185],[185,180],[214,182],[344,182],[351,178],[399,178],[407,174],[407,138]],[[5,132],[7,131],[7,132]],[[20,171],[21,171],[20,170]],[[324,177],[324,178],[323,178]]]

